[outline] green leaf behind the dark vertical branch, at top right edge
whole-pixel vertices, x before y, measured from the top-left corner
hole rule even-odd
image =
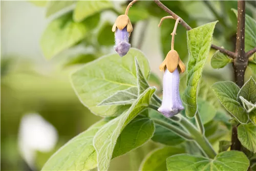
[[[232,9],[233,12],[238,16],[238,11]],[[245,51],[249,51],[256,47],[256,21],[245,14]],[[256,53],[254,54],[256,55]]]

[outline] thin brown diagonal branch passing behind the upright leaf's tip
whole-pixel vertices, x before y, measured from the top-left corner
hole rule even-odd
[[[165,5],[163,5],[159,0],[154,0],[154,2],[160,7],[162,8],[165,12],[167,12],[169,15],[173,16],[174,19],[178,19],[180,18],[180,24],[186,28],[186,30],[191,30],[192,28],[181,18],[179,17],[177,14],[175,14],[173,11],[171,11],[170,9],[168,9]],[[216,45],[211,45],[211,48],[212,49],[215,49],[215,50],[220,50],[221,53],[224,53],[228,56],[230,56],[231,58],[235,58],[236,57],[236,54],[233,53],[233,52],[230,52],[226,49],[223,49],[221,47],[218,47]]]

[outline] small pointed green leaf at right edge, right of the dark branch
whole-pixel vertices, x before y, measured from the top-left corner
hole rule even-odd
[[[244,97],[247,101],[251,103],[256,103],[256,82],[252,77],[245,82],[244,86],[241,88],[241,90],[238,93],[238,101],[240,101],[239,96]]]

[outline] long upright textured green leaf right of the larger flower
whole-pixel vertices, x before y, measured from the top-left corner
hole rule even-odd
[[[194,117],[197,112],[197,89],[208,56],[212,34],[217,22],[212,22],[187,31],[189,61],[187,67],[187,88],[183,94],[186,115]]]

